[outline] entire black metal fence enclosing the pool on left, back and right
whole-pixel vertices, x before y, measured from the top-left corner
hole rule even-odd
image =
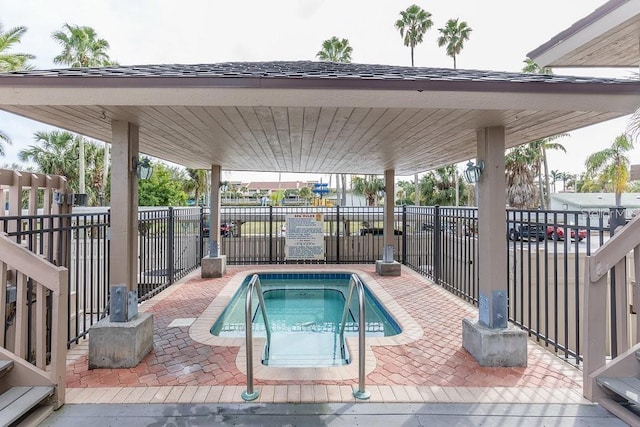
[[[324,263],[381,259],[382,207],[223,207],[217,230],[229,264],[285,264],[286,218],[323,215]],[[606,217],[583,212],[508,210],[509,318],[544,345],[580,363],[584,257],[609,238]],[[141,301],[200,265],[208,253],[202,208],[141,209],[138,223]],[[0,217],[0,229],[69,268],[69,343],[104,315],[109,296],[109,213]],[[395,259],[451,293],[478,303],[477,209],[398,206]],[[7,325],[7,323],[5,323]],[[50,326],[50,325],[49,325]],[[7,326],[5,326],[7,327]]]

